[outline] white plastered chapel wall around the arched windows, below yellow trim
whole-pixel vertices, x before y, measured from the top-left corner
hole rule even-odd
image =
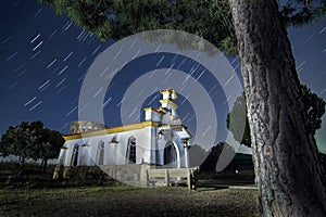
[[[118,143],[111,143],[113,137]],[[97,162],[97,152],[100,141],[104,142],[104,165],[125,165],[127,143],[130,137],[136,138],[136,164],[164,164],[164,148],[168,141],[172,141],[177,152],[178,167],[185,167],[185,149],[177,132],[165,131],[159,139],[158,130],[154,127],[146,127],[125,132],[102,135],[85,139],[68,140],[64,143],[67,150],[63,165],[71,166],[74,145],[78,144],[78,166],[95,166]],[[86,144],[86,145],[83,145]],[[63,153],[61,153],[63,154]]]

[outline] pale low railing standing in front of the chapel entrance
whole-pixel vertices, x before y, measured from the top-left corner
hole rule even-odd
[[[193,169],[192,168],[171,168],[171,169],[148,169],[147,170],[147,186],[155,184],[158,178],[164,178],[165,186],[170,186],[173,181],[171,178],[186,178],[186,183],[188,189],[193,189],[195,182],[193,178]]]

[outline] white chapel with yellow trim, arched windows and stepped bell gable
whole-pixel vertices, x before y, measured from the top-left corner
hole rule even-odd
[[[152,165],[189,167],[190,132],[177,115],[173,89],[161,91],[161,106],[145,108],[145,120],[105,128],[93,122],[75,122],[64,136],[54,178],[72,167]],[[61,171],[62,173],[62,171]]]

